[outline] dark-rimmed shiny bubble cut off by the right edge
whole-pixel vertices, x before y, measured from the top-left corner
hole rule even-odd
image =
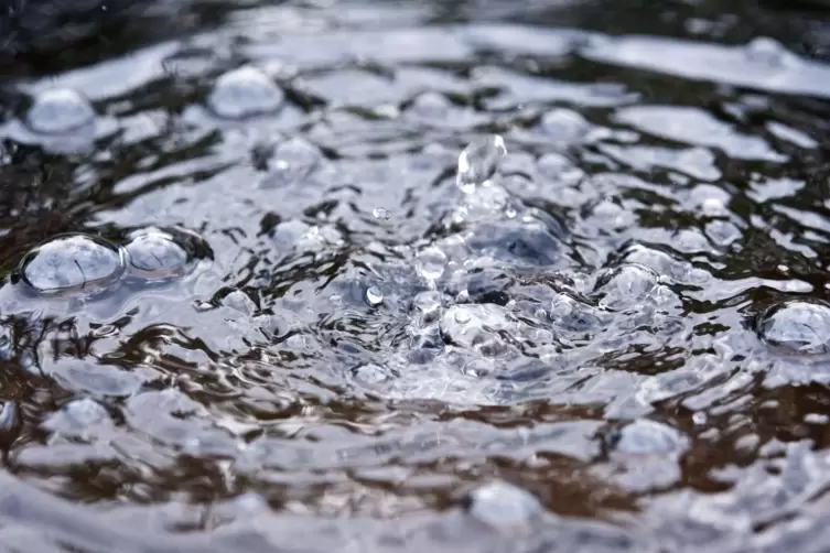
[[[761,339],[799,354],[830,353],[830,304],[794,300],[765,311],[758,322]]]

